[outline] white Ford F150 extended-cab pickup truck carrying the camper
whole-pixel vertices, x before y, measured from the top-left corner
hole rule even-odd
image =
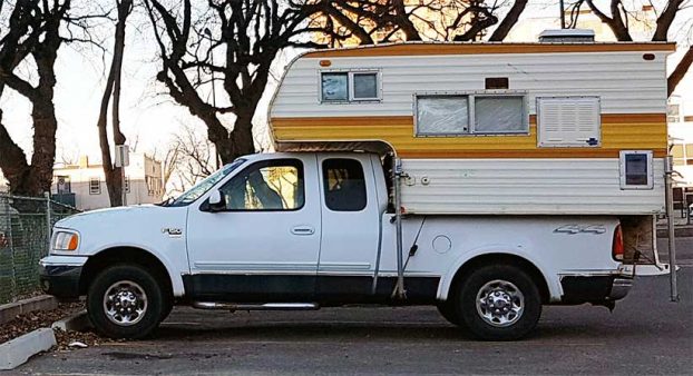
[[[436,305],[481,339],[517,339],[543,305],[613,307],[631,287],[614,216],[404,215],[398,267],[387,174],[367,152],[243,157],[175,200],[59,221],[41,284],[86,295],[96,328],[126,338],[175,304],[385,304]]]

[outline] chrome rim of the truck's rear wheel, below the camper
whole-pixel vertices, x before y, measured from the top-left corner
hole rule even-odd
[[[477,293],[477,313],[489,325],[507,327],[517,323],[525,310],[525,296],[514,284],[495,279]]]

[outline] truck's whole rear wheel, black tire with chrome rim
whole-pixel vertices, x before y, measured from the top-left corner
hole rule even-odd
[[[514,340],[536,328],[541,316],[541,297],[523,269],[488,265],[461,281],[457,313],[479,339]]]

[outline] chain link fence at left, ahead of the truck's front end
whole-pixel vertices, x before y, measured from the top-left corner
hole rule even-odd
[[[39,288],[39,260],[48,254],[52,226],[77,209],[48,197],[0,194],[0,304]]]

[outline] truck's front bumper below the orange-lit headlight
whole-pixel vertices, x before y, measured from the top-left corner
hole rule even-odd
[[[77,298],[81,294],[79,278],[87,257],[48,256],[39,261],[41,289],[59,298]]]

